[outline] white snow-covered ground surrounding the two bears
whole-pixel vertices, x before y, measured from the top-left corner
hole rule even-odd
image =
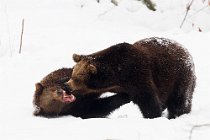
[[[189,0],[153,0],[156,12],[137,0],[118,1],[116,7],[110,0],[99,4],[96,0],[0,0],[0,139],[210,138],[210,126],[199,127],[210,124],[208,0],[194,1],[182,29]],[[18,54],[23,18],[23,48]],[[174,39],[193,56],[197,86],[190,114],[172,120],[144,119],[137,106],[129,103],[108,118],[32,115],[34,84],[55,69],[73,66],[73,53],[88,54],[152,36]]]

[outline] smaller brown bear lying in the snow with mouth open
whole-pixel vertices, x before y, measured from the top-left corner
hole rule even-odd
[[[113,95],[99,98],[99,95],[87,95],[75,98],[67,91],[64,83],[71,78],[72,69],[56,70],[36,84],[34,94],[34,115],[57,117],[73,115],[81,118],[106,117],[121,105],[130,100],[126,95]]]

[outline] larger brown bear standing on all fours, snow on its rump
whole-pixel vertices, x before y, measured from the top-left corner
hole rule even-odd
[[[147,38],[121,43],[90,55],[73,55],[76,65],[66,83],[73,94],[127,94],[145,118],[168,118],[191,111],[195,88],[194,64],[179,43]]]

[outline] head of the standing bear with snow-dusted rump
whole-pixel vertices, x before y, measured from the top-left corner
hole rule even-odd
[[[73,60],[76,65],[66,84],[74,95],[107,92],[118,87],[114,69],[103,57],[74,54]]]

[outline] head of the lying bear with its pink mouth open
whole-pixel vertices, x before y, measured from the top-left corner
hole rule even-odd
[[[72,94],[67,94],[60,85],[43,86],[37,83],[35,86],[35,116],[56,116],[76,99]]]

